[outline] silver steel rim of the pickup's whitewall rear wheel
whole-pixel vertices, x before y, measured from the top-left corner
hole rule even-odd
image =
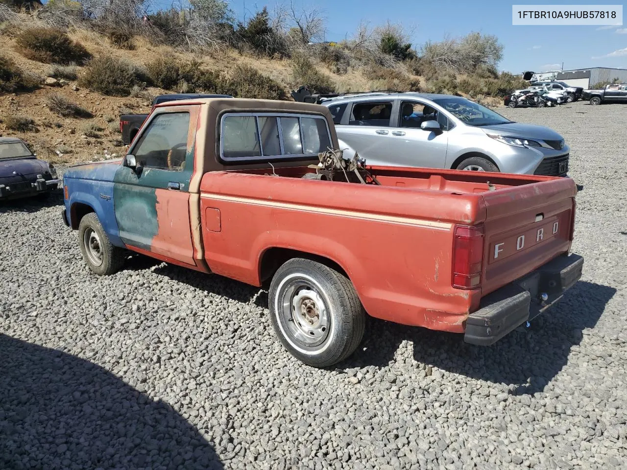
[[[320,348],[329,337],[329,306],[317,286],[305,278],[299,276],[284,285],[277,316],[288,340],[301,347]]]

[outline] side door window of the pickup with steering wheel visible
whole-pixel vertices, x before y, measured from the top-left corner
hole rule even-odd
[[[156,115],[133,152],[142,167],[182,171],[187,155],[189,112]]]

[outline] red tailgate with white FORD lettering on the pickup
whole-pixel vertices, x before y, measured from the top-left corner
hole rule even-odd
[[[560,178],[483,193],[482,295],[570,249],[576,192],[572,179]]]

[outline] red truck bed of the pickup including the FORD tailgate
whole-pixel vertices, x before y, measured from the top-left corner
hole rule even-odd
[[[483,296],[571,246],[576,185],[568,178],[371,167],[380,186],[302,179],[313,171],[205,174],[202,238],[211,270],[261,285],[260,266],[273,249],[315,253],[344,269],[370,315],[463,332]],[[484,234],[477,288],[451,285],[457,226]]]

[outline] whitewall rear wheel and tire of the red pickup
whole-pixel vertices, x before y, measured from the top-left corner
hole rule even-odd
[[[366,312],[349,279],[317,261],[293,258],[270,283],[270,318],[283,346],[312,367],[349,357],[366,328]]]

